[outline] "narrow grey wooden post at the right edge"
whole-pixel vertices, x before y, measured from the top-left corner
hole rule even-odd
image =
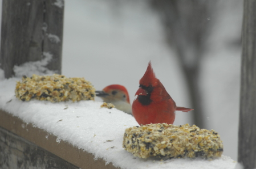
[[[238,162],[256,168],[256,0],[245,0],[242,28]]]

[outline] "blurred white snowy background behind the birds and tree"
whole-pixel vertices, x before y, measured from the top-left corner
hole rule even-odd
[[[160,19],[147,1],[65,3],[63,75],[84,77],[97,90],[123,84],[132,102],[151,60],[157,78],[176,104],[190,107],[176,57],[166,47]],[[219,1],[218,10],[212,16],[217,21],[206,42],[209,51],[201,73],[204,113],[207,129],[216,130],[224,142],[224,155],[236,160],[241,49],[232,44],[241,36],[242,1]],[[177,112],[174,125],[192,125],[190,119],[189,113]]]

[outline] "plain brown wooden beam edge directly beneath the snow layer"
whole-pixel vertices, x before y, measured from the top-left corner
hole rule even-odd
[[[71,143],[68,143],[63,140],[60,140],[60,142],[56,142],[57,140],[56,136],[50,133],[47,133],[43,129],[36,128],[32,124],[26,124],[18,117],[15,117],[7,112],[4,112],[1,109],[0,109],[0,127],[2,127],[5,130],[8,130],[13,134],[17,134],[17,136],[24,138],[26,141],[29,141],[32,144],[38,147],[41,147],[42,149],[58,156],[59,158],[62,158],[63,160],[66,160],[67,162],[79,168],[82,168],[82,169],[83,168],[92,168],[92,169],[118,168],[118,167],[114,167],[112,163],[105,164],[105,161],[101,158],[95,159],[93,154],[88,153],[82,149],[79,149],[78,147],[72,145]],[[0,150],[2,150],[1,144],[0,144]],[[9,157],[9,158],[12,158],[12,157]],[[2,162],[3,160],[4,159],[1,158],[1,153],[0,153],[0,164],[3,163]],[[19,165],[18,162],[15,160],[14,161],[10,160],[10,164],[12,164],[13,166]],[[14,167],[14,168],[19,168],[19,167]]]

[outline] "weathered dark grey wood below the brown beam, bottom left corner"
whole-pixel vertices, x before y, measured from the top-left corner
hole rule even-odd
[[[0,127],[0,168],[78,169],[66,160]]]

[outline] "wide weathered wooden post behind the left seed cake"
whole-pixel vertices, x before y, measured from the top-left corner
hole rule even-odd
[[[61,73],[64,0],[3,0],[1,68],[5,78],[14,75],[14,65],[44,58],[46,66]]]

